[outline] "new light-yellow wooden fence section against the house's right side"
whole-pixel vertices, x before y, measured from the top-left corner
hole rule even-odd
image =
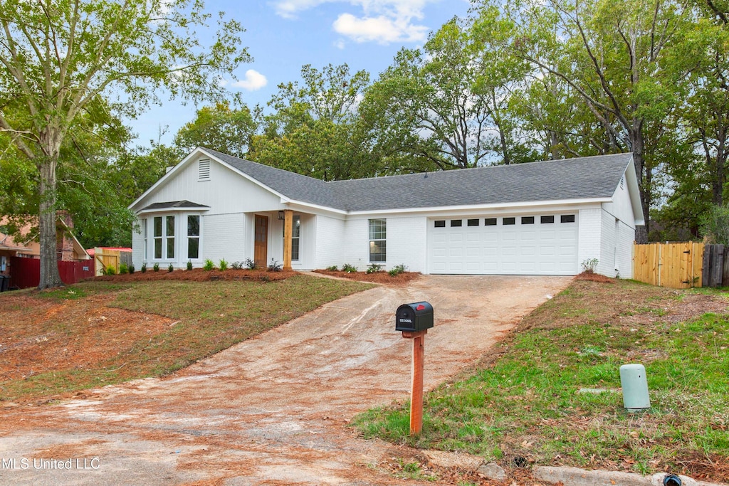
[[[703,243],[634,245],[633,278],[672,289],[701,287]]]

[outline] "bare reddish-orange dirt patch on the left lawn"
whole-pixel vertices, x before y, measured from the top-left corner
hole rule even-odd
[[[61,380],[53,372],[62,369],[71,370],[63,378],[69,384],[74,377],[101,370],[96,372],[100,373],[97,383],[103,385],[104,364],[109,358],[129,352],[143,337],[152,340],[172,323],[162,315],[106,307],[108,300],[108,296],[91,296],[54,302],[27,293],[4,296],[0,321],[0,401],[11,380],[23,380],[21,383],[29,389],[42,391],[52,386],[55,379]],[[79,328],[84,332],[74,332]],[[128,379],[123,368],[115,370],[114,375],[114,381]],[[39,402],[44,401],[47,398]]]

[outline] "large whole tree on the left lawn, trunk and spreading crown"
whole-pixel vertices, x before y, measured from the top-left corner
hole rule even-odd
[[[222,94],[219,73],[249,60],[241,26],[219,15],[216,41],[195,31],[210,15],[191,0],[4,0],[0,4],[0,130],[38,176],[39,289],[61,286],[55,211],[61,147],[84,113],[133,116],[157,93]],[[107,100],[109,100],[107,102]]]

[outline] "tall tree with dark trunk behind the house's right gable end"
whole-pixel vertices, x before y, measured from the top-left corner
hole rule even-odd
[[[683,4],[664,0],[527,0],[509,12],[513,42],[504,49],[561,78],[606,131],[606,152],[634,154],[647,241],[652,184],[659,161],[646,131],[655,133],[675,106],[674,79],[660,66],[677,31],[686,25]]]

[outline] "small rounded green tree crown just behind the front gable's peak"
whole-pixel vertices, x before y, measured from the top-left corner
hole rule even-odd
[[[235,157],[246,157],[256,128],[248,106],[231,109],[225,101],[200,108],[195,119],[179,129],[174,144],[184,152],[205,146]]]

